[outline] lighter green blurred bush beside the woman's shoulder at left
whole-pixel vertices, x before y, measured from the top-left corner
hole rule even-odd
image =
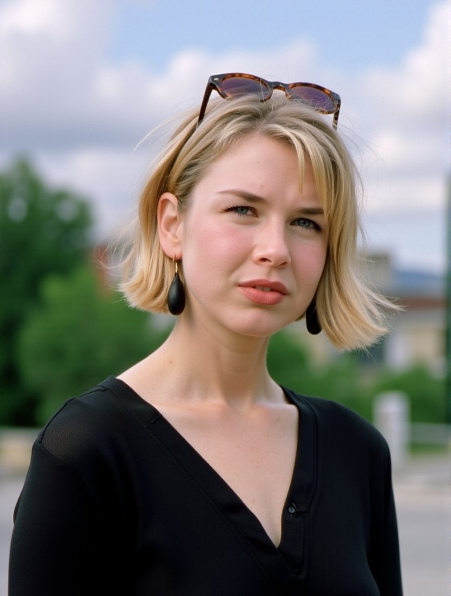
[[[152,321],[117,292],[102,288],[94,267],[46,278],[41,304],[24,322],[18,341],[24,383],[39,395],[36,423],[41,426],[67,398],[157,348],[168,331]]]

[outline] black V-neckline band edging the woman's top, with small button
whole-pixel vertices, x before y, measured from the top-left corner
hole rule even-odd
[[[116,384],[120,384],[120,387],[117,387],[119,390],[115,390]],[[200,487],[204,496],[220,508],[242,538],[253,544],[259,552],[281,557],[291,570],[300,569],[306,538],[304,518],[312,504],[316,485],[315,418],[301,396],[281,387],[288,401],[298,409],[298,436],[293,475],[281,511],[281,539],[276,545],[256,514],[154,405],[145,401],[125,381],[116,377],[108,377],[102,385],[114,393],[128,409],[132,406],[133,415],[140,418],[173,460],[178,462]],[[126,401],[121,399],[124,390],[127,395]],[[133,405],[139,407],[135,409]]]

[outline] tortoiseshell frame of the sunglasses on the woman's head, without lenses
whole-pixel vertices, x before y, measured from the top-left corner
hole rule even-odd
[[[207,83],[206,89],[205,89],[205,93],[204,93],[204,98],[202,100],[202,104],[200,107],[200,111],[199,111],[199,117],[197,120],[197,126],[200,125],[200,123],[202,122],[202,120],[204,119],[205,116],[205,111],[207,109],[207,104],[209,103],[209,99],[210,99],[210,95],[211,95],[211,91],[217,91],[220,95],[220,97],[227,99],[229,97],[234,97],[233,95],[229,95],[227,92],[222,90],[222,82],[226,79],[231,79],[231,78],[240,78],[240,79],[251,79],[256,81],[257,83],[260,83],[260,85],[265,86],[266,88],[268,88],[268,97],[263,98],[260,101],[268,101],[270,99],[270,97],[272,96],[272,92],[274,91],[274,89],[279,89],[280,91],[284,91],[286,97],[289,100],[298,100],[298,101],[303,101],[300,97],[297,97],[296,95],[293,95],[290,93],[290,89],[296,88],[296,87],[310,87],[313,89],[319,89],[319,91],[322,91],[325,95],[328,95],[329,98],[331,98],[331,100],[334,103],[334,110],[332,111],[325,111],[325,110],[321,110],[321,108],[314,108],[315,111],[318,111],[321,114],[334,114],[334,120],[333,120],[333,126],[336,129],[337,128],[337,123],[338,123],[338,115],[340,114],[340,105],[341,105],[341,99],[340,99],[340,95],[338,95],[338,93],[335,93],[334,91],[331,91],[330,89],[327,89],[326,87],[323,87],[322,85],[315,85],[315,83],[282,83],[279,80],[274,80],[274,81],[269,81],[266,79],[262,79],[262,77],[258,77],[258,76],[254,76],[254,75],[246,75],[245,73],[224,73],[222,75],[211,75],[209,78],[209,81]],[[306,101],[305,103],[308,104],[308,102]]]

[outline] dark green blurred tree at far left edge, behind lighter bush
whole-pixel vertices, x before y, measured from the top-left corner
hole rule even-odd
[[[36,396],[18,374],[18,328],[35,306],[43,278],[86,260],[90,233],[86,200],[48,187],[25,160],[0,173],[0,424],[30,423]]]

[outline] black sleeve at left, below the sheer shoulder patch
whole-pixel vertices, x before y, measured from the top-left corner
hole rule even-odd
[[[99,517],[83,480],[35,443],[14,512],[10,596],[95,594]]]

